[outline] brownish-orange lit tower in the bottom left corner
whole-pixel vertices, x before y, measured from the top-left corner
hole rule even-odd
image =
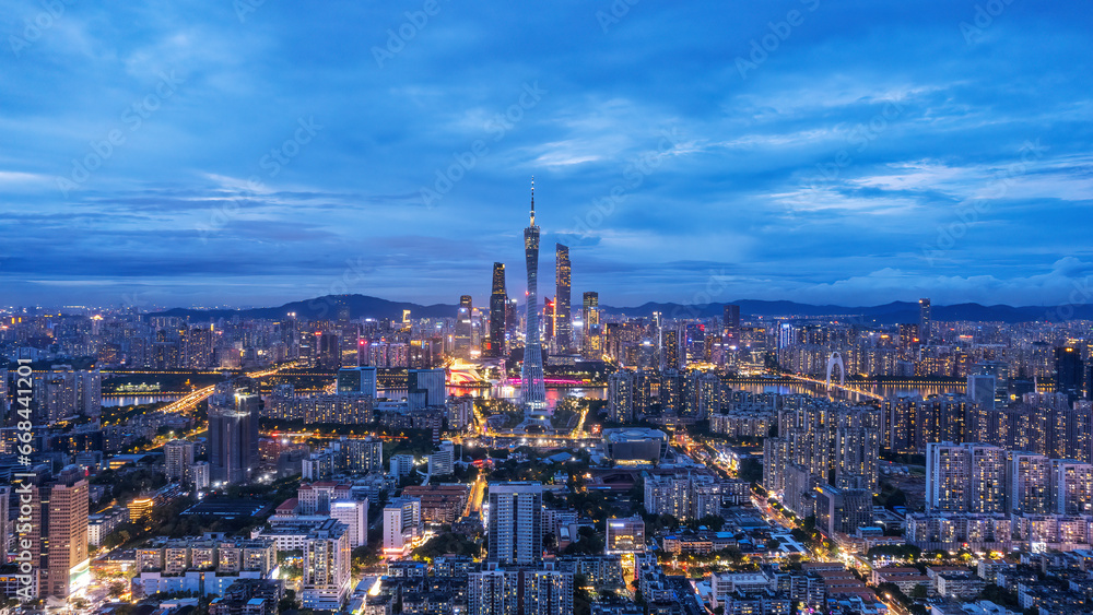
[[[79,465],[32,487],[31,556],[39,598],[67,598],[73,568],[87,559],[87,480]]]

